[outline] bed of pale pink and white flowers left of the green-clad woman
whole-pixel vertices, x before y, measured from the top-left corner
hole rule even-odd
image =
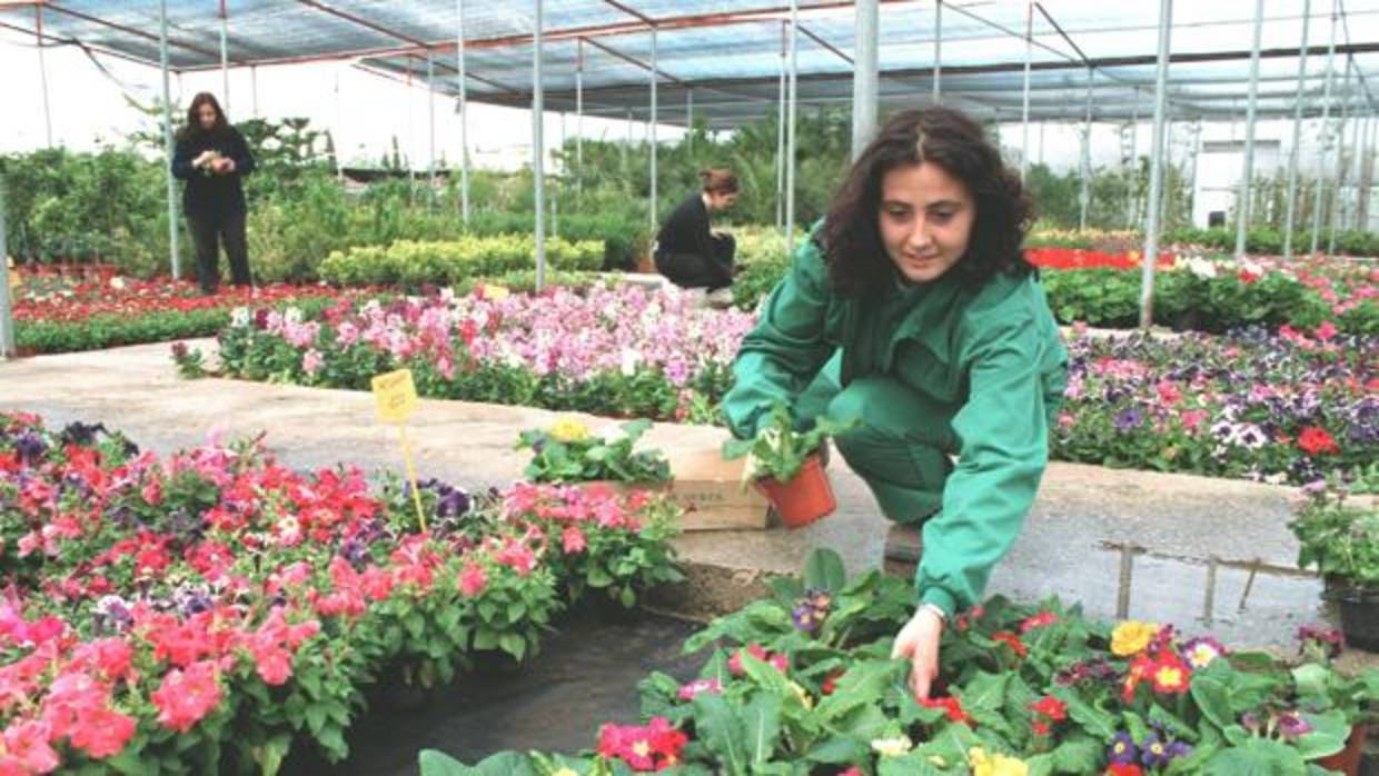
[[[364,390],[408,367],[422,396],[654,419],[727,390],[745,313],[632,287],[480,288],[456,296],[341,300],[319,321],[237,312],[219,335],[226,375]],[[702,404],[702,402],[701,402]]]

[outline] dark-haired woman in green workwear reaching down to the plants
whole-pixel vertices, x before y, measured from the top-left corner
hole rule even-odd
[[[900,113],[796,251],[724,400],[743,437],[776,401],[800,426],[860,420],[838,452],[885,517],[923,532],[918,601],[894,649],[912,660],[918,697],[945,623],[979,601],[1019,535],[1067,385],[1067,351],[1022,251],[1030,221],[1019,178],[976,123],[942,108]]]

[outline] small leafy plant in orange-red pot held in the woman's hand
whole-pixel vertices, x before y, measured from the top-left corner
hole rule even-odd
[[[723,456],[728,460],[747,456],[742,481],[753,482],[781,513],[786,528],[801,528],[837,509],[833,485],[823,470],[822,447],[827,437],[856,426],[818,418],[808,431],[796,431],[783,404],[771,408],[769,423],[757,429],[750,440],[728,440]]]

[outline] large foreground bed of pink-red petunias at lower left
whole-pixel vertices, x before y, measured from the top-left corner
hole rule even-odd
[[[165,460],[0,415],[0,773],[276,773],[338,761],[364,691],[523,659],[594,591],[677,579],[677,507],[519,484],[472,496],[301,474],[255,442]]]

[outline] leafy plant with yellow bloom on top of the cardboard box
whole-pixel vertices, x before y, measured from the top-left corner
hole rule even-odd
[[[633,452],[651,420],[619,426],[614,438],[593,436],[576,420],[557,420],[550,429],[523,431],[517,449],[531,449],[527,478],[532,482],[667,482],[670,463],[659,449]]]

